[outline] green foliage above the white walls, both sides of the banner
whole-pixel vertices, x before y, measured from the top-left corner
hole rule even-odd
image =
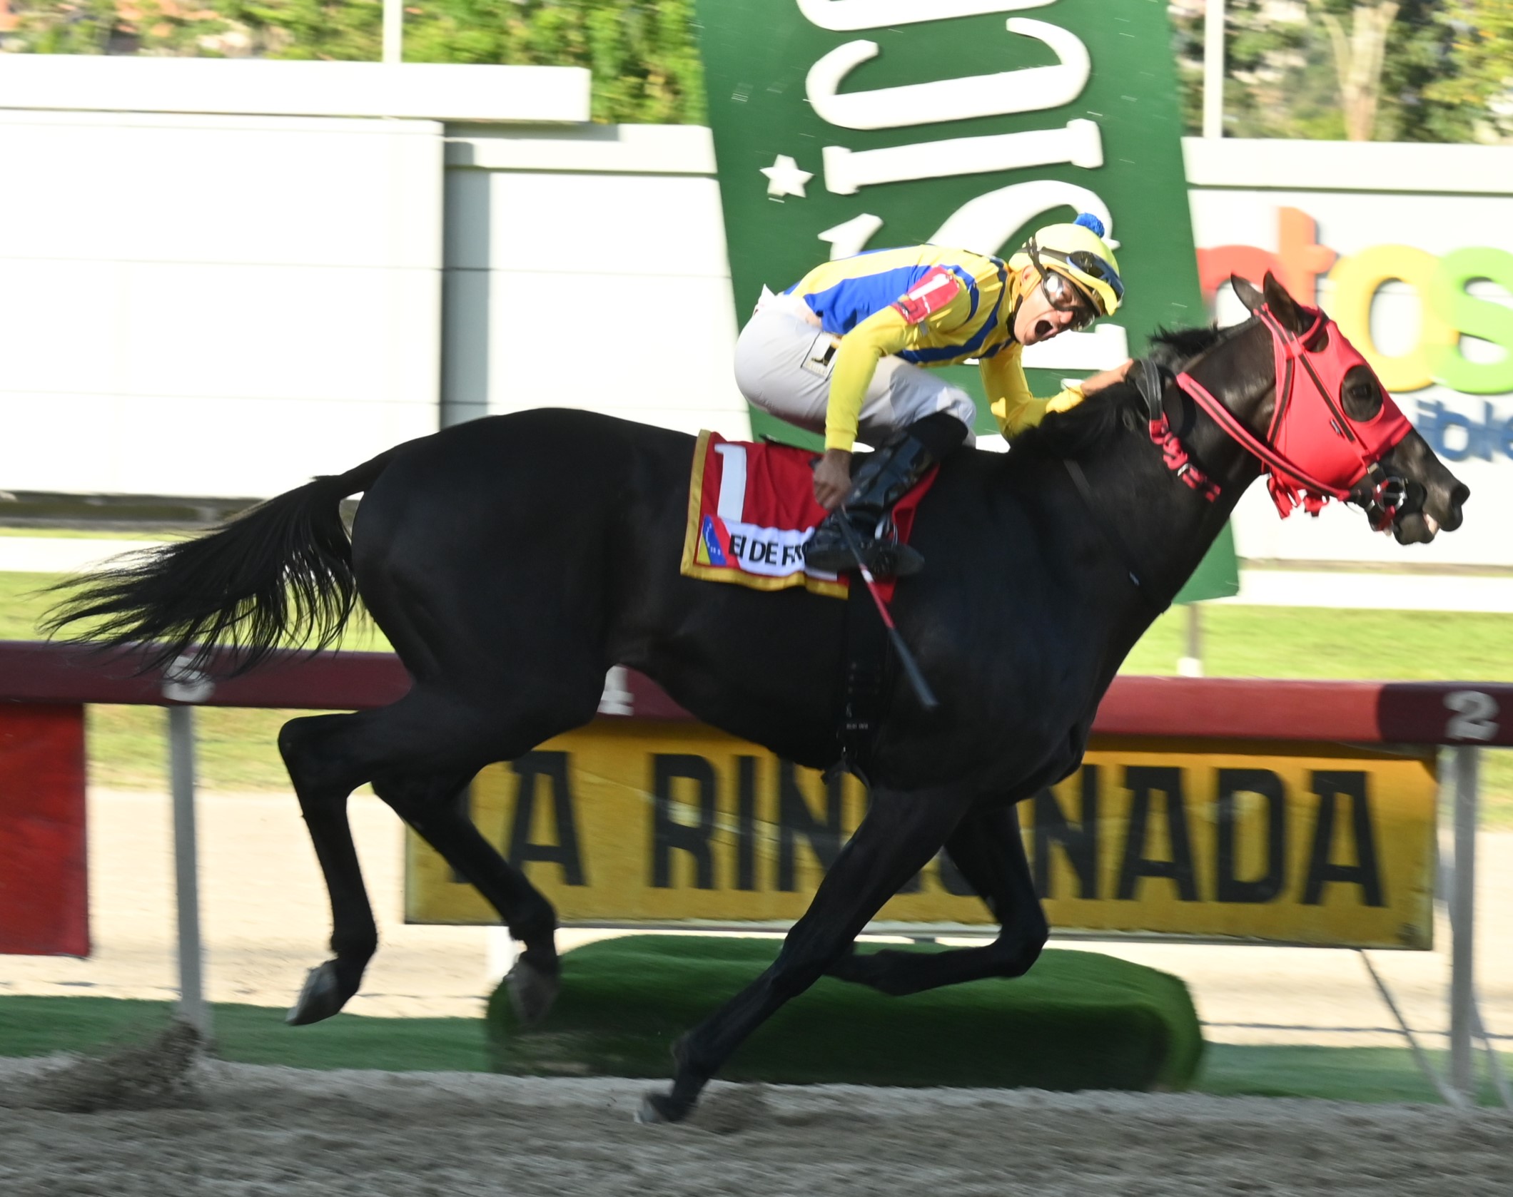
[[[927,3],[927,0],[921,0]],[[1112,5],[1114,0],[1109,0]],[[1375,0],[1227,0],[1226,131],[1344,138],[1324,14]],[[381,0],[9,0],[0,50],[375,60]],[[1203,0],[1170,0],[1189,133],[1201,127]],[[3,15],[3,9],[0,9]],[[691,0],[415,0],[405,62],[587,66],[593,118],[704,124]],[[1377,141],[1513,142],[1513,0],[1401,0]]]

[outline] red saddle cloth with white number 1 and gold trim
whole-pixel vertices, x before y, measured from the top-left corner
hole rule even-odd
[[[847,577],[806,570],[803,564],[803,546],[825,518],[825,508],[814,502],[816,456],[787,444],[728,441],[719,432],[701,432],[688,485],[682,573],[753,589],[805,586],[844,598]],[[905,543],[915,508],[934,481],[930,470],[893,508]],[[884,597],[891,595],[893,583],[882,586]]]

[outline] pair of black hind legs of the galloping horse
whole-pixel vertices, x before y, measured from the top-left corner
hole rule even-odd
[[[278,735],[300,807],[331,898],[333,960],[312,970],[289,1014],[310,1023],[337,1013],[362,984],[378,946],[346,821],[346,798],[363,781],[431,839],[448,863],[483,890],[531,954],[528,972],[555,976],[551,904],[484,840],[457,804],[461,786],[493,760],[508,760],[540,741],[587,721],[598,691],[543,703],[523,716],[416,686],[399,701],[356,715],[292,719]],[[549,985],[536,985],[537,1010]],[[530,1013],[530,1011],[527,1011]]]

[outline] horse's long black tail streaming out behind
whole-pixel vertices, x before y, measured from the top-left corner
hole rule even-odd
[[[231,676],[275,648],[328,647],[357,606],[340,503],[368,490],[392,453],[284,491],[204,537],[126,553],[57,583],[51,589],[70,594],[42,630],[67,629],[70,639],[101,648],[142,645],[142,670],[186,653],[188,667],[203,670],[216,648],[230,648]]]

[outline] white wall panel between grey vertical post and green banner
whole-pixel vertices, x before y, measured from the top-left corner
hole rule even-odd
[[[458,145],[449,162],[514,159],[510,138]],[[679,174],[572,169],[573,141],[533,147],[549,169],[448,169],[448,419],[558,405],[749,437],[705,139],[658,142],[657,166],[687,160]]]

